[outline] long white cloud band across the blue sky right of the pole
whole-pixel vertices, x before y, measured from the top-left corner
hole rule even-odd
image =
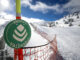
[[[43,13],[48,12],[48,10],[56,11],[55,13],[63,13],[65,10],[68,12],[75,12],[80,11],[80,0],[70,0],[67,4],[63,5],[63,7],[60,6],[60,4],[56,4],[53,6],[49,6],[45,3],[37,1],[35,5],[31,4],[32,0],[22,0],[23,6],[28,6],[33,11],[40,11]],[[72,9],[73,7],[74,9]],[[70,8],[69,10],[67,10]]]

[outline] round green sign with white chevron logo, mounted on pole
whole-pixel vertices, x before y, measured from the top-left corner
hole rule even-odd
[[[4,40],[12,48],[25,46],[31,37],[31,28],[24,20],[10,22],[4,30]]]

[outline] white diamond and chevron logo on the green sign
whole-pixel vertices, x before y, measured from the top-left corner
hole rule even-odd
[[[19,32],[21,32],[21,33],[19,33]],[[14,33],[15,34],[13,34],[13,38],[14,39],[16,39],[17,41],[23,41],[23,40],[25,40],[25,38],[27,37],[27,35],[28,35],[28,33],[27,33],[27,31],[26,31],[26,29],[24,28],[24,26],[23,25],[19,25],[18,27],[17,27],[17,30],[15,29],[14,30]],[[24,31],[23,31],[24,30]],[[22,32],[23,31],[23,32]],[[19,36],[19,37],[17,37],[17,36]],[[20,37],[22,37],[22,38],[20,38]]]

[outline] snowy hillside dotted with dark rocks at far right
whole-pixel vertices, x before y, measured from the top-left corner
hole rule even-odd
[[[80,12],[67,15],[55,23],[57,27],[80,27]]]

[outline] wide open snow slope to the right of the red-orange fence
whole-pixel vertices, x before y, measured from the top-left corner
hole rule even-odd
[[[80,28],[49,28],[40,26],[43,31],[47,31],[50,39],[54,34],[57,35],[57,45],[59,53],[64,60],[80,60]]]

